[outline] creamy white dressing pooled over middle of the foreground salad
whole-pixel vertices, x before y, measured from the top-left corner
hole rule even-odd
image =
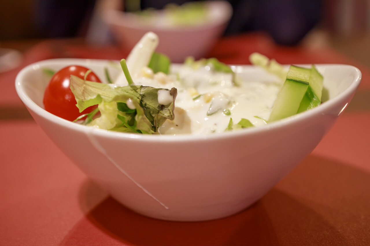
[[[231,73],[216,72],[210,65],[197,69],[184,65],[171,75],[161,73],[156,76],[148,72],[148,68],[142,71],[146,72],[132,78],[136,85],[166,89],[175,87],[178,91],[175,119],[166,120],[159,127],[161,134],[221,133],[228,126],[230,117],[234,123],[244,118],[254,126],[265,125],[264,120],[269,118],[280,89],[276,81],[235,85]],[[159,90],[160,104],[167,105],[171,100],[168,90]]]

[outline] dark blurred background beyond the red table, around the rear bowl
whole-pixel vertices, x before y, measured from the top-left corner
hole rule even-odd
[[[186,1],[115,2],[130,11],[160,9],[169,2]],[[262,31],[279,45],[329,45],[370,65],[370,0],[229,0],[229,3],[233,16],[224,36]],[[96,21],[97,8],[99,0],[2,0],[0,47],[26,49],[33,41],[74,37],[114,44],[114,36]]]

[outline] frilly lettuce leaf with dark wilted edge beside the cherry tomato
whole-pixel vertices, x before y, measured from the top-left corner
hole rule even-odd
[[[101,119],[97,118],[90,123],[97,127],[108,130],[132,131],[125,126],[125,124],[131,123],[134,129],[141,132],[157,133],[158,128],[166,119],[174,119],[176,88],[169,90],[172,102],[168,105],[161,105],[158,103],[158,90],[164,89],[142,85],[110,86],[104,83],[85,81],[74,75],[71,75],[70,81],[70,88],[80,112],[92,105],[99,105]],[[117,108],[117,103],[127,103],[129,99],[135,106],[135,113],[122,112]],[[123,116],[123,118],[117,115]],[[122,119],[125,122],[122,122]]]

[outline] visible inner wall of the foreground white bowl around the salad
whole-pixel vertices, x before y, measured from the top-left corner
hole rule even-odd
[[[24,68],[16,79],[16,89],[20,98],[26,103],[28,107],[37,105],[43,108],[43,94],[50,77],[43,71],[43,69],[53,69],[57,71],[71,64],[83,65],[91,68],[103,81],[105,80],[104,68],[108,68],[109,74],[115,78],[120,73],[120,70],[112,66],[111,61],[94,60],[94,59],[50,59],[46,61],[37,62]],[[180,64],[173,64],[172,71],[181,66]],[[299,65],[309,66],[309,65]],[[359,69],[350,65],[316,65],[317,69],[324,76],[324,90],[322,95],[323,105],[327,103],[335,103],[340,96],[354,92],[359,86],[361,79],[361,72]],[[268,74],[262,69],[254,66],[232,66],[239,76],[248,83],[248,81],[274,81],[274,75]]]

